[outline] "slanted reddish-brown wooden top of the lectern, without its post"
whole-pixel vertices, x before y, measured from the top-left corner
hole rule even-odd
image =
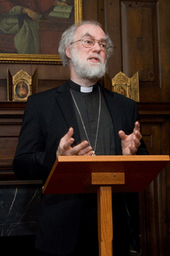
[[[89,193],[105,185],[113,192],[142,192],[168,161],[168,155],[60,156],[42,192]]]

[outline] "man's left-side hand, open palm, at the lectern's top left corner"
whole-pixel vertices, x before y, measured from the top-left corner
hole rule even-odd
[[[88,145],[88,142],[85,140],[78,145],[71,147],[74,142],[73,139],[73,128],[71,127],[63,138],[60,139],[60,144],[58,146],[56,155],[92,155],[92,148]]]

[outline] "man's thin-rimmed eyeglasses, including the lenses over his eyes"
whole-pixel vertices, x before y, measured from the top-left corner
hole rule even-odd
[[[88,38],[88,37],[87,38],[84,37],[83,39],[79,39],[79,40],[77,40],[75,42],[79,42],[79,41],[82,42],[82,45],[85,48],[91,48],[91,47],[94,46],[95,42],[97,42],[100,45],[101,50],[104,51],[104,52],[107,52],[107,49],[112,47],[111,45],[108,44],[108,42],[99,41],[99,40]],[[75,42],[71,42],[70,45],[72,45]]]

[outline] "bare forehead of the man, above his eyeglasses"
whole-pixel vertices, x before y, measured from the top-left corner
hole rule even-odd
[[[78,27],[76,31],[76,37],[82,38],[82,36],[91,36],[95,39],[105,39],[107,36],[99,26],[93,24],[84,24]]]

